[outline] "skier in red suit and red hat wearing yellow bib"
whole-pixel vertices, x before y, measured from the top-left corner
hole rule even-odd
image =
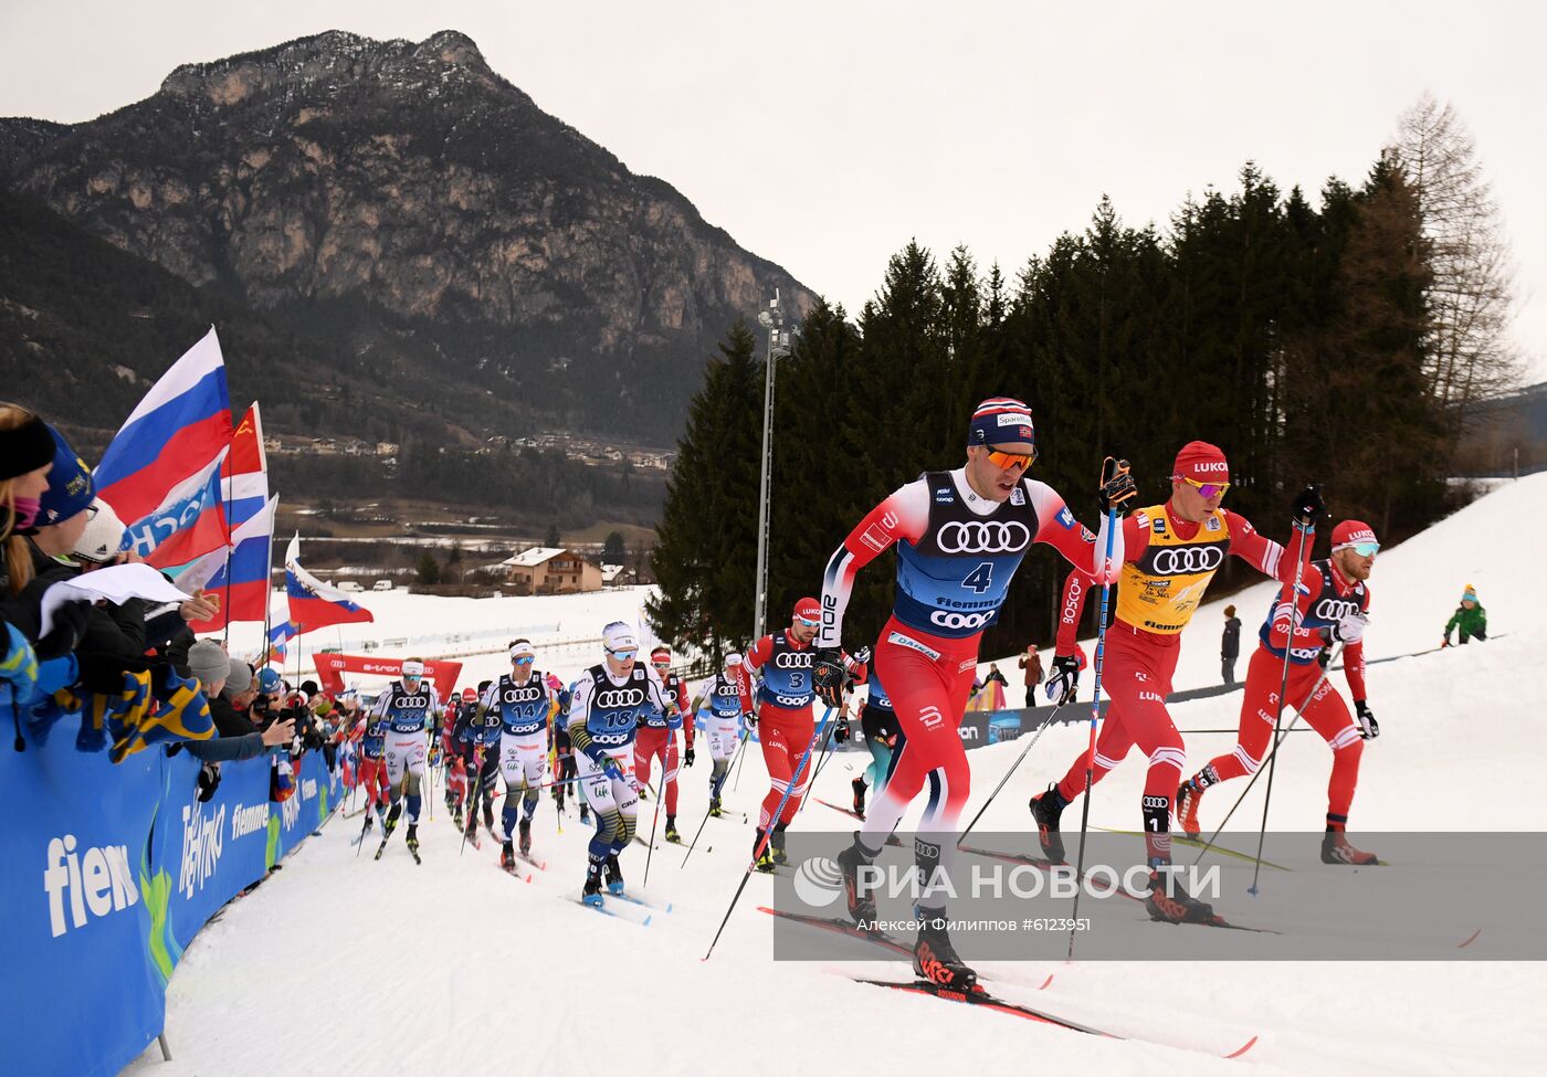
[[[1094,786],[1139,744],[1149,760],[1142,809],[1149,863],[1146,907],[1156,919],[1213,919],[1213,908],[1188,894],[1171,874],[1171,795],[1187,766],[1187,752],[1165,698],[1171,695],[1182,630],[1230,554],[1284,583],[1295,580],[1295,559],[1286,557],[1282,546],[1258,534],[1245,517],[1219,508],[1228,489],[1225,453],[1205,441],[1190,441],[1173,466],[1171,500],[1137,509],[1123,521],[1117,616],[1106,631],[1101,670],[1101,687],[1112,704],[1101,721],[1094,764],[1089,750],[1081,752],[1061,781],[1030,802],[1043,853],[1050,860],[1063,860],[1060,815],[1084,791],[1086,769],[1094,766]],[[1321,495],[1306,487],[1295,498],[1296,528],[1301,523],[1310,528],[1320,512]],[[1307,531],[1301,535],[1307,542],[1295,551],[1304,562],[1310,559],[1310,542]],[[1057,656],[1047,679],[1055,695],[1071,695],[1080,676],[1084,656],[1075,631],[1089,591],[1091,580],[1081,573],[1071,573],[1064,582]]]

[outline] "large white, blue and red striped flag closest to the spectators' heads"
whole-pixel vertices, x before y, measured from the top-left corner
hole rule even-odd
[[[198,537],[172,551],[178,559],[152,563],[178,565],[229,542],[220,464],[231,438],[226,364],[210,327],[139,401],[94,474],[97,497],[133,521],[133,549],[142,557],[152,560],[179,531],[198,529]]]

